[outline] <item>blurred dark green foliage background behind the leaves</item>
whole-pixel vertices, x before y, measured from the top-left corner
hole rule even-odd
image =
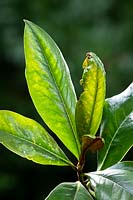
[[[69,65],[79,96],[82,62],[88,51],[105,64],[107,97],[133,80],[132,0],[1,0],[0,109],[10,109],[41,121],[24,77],[23,19],[44,28],[57,42]],[[95,170],[89,155],[87,170]],[[131,151],[126,159],[131,159]],[[58,183],[75,181],[68,167],[35,164],[0,145],[0,199],[43,200]]]

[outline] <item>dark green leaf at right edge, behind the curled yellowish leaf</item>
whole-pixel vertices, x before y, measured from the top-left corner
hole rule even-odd
[[[105,144],[98,154],[98,169],[106,169],[122,160],[133,145],[133,83],[106,100],[100,135]]]

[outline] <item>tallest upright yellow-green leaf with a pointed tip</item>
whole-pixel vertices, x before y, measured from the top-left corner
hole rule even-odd
[[[26,79],[33,103],[47,126],[77,157],[76,95],[67,64],[52,38],[25,21]]]

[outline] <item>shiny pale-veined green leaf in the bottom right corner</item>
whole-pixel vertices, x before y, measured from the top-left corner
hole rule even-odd
[[[97,200],[133,199],[133,162],[118,163],[88,176]]]

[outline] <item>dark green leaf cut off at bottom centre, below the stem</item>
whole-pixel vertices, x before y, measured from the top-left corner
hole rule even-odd
[[[88,191],[79,182],[61,183],[45,200],[93,200]]]

